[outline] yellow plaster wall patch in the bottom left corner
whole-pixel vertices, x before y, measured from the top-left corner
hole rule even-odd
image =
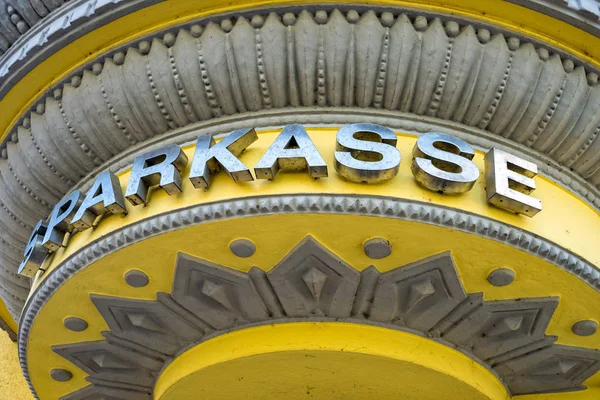
[[[33,400],[21,374],[17,344],[0,331],[0,400]]]

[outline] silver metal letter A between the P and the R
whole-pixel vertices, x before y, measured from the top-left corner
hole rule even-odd
[[[75,213],[72,225],[79,231],[89,229],[98,216],[107,212],[115,215],[127,212],[119,178],[110,171],[98,175]]]

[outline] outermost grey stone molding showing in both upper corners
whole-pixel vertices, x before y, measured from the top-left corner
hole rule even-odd
[[[0,56],[7,53],[0,57],[0,98],[24,74],[62,46],[120,16],[162,1],[165,0],[0,0],[0,8],[8,13],[8,17],[3,15],[0,20],[1,28],[7,31],[2,33],[6,40],[0,44]],[[506,1],[600,35],[598,0]],[[58,11],[50,13],[52,10]],[[7,51],[17,40],[19,45]]]

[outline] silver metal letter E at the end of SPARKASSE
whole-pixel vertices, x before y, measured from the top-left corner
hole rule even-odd
[[[528,196],[535,190],[534,163],[493,148],[485,155],[485,175],[488,203],[528,217],[542,211],[542,201]]]

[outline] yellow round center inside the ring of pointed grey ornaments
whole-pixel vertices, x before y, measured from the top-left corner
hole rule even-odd
[[[154,389],[155,400],[369,397],[510,398],[489,370],[447,346],[406,332],[334,322],[217,336],[177,357]]]

